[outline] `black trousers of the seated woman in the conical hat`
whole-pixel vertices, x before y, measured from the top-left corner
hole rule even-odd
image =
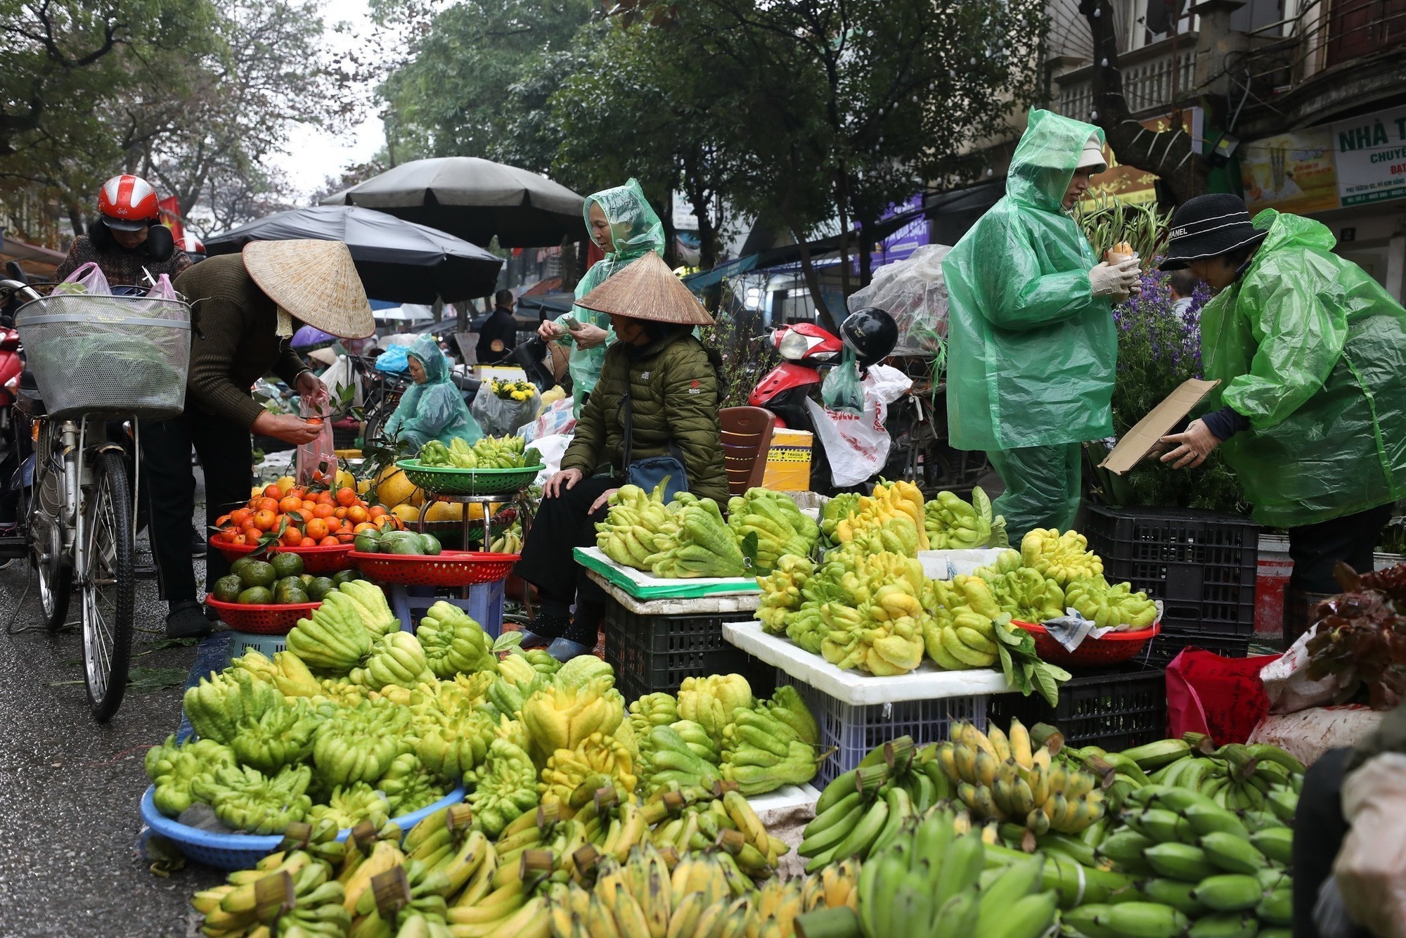
[[[602,505],[593,515],[586,512],[602,492],[619,485],[609,475],[592,475],[557,498],[541,501],[513,572],[537,586],[543,600],[564,606],[605,603],[605,591],[572,558],[571,550],[596,546],[596,522],[603,522],[610,509]]]

